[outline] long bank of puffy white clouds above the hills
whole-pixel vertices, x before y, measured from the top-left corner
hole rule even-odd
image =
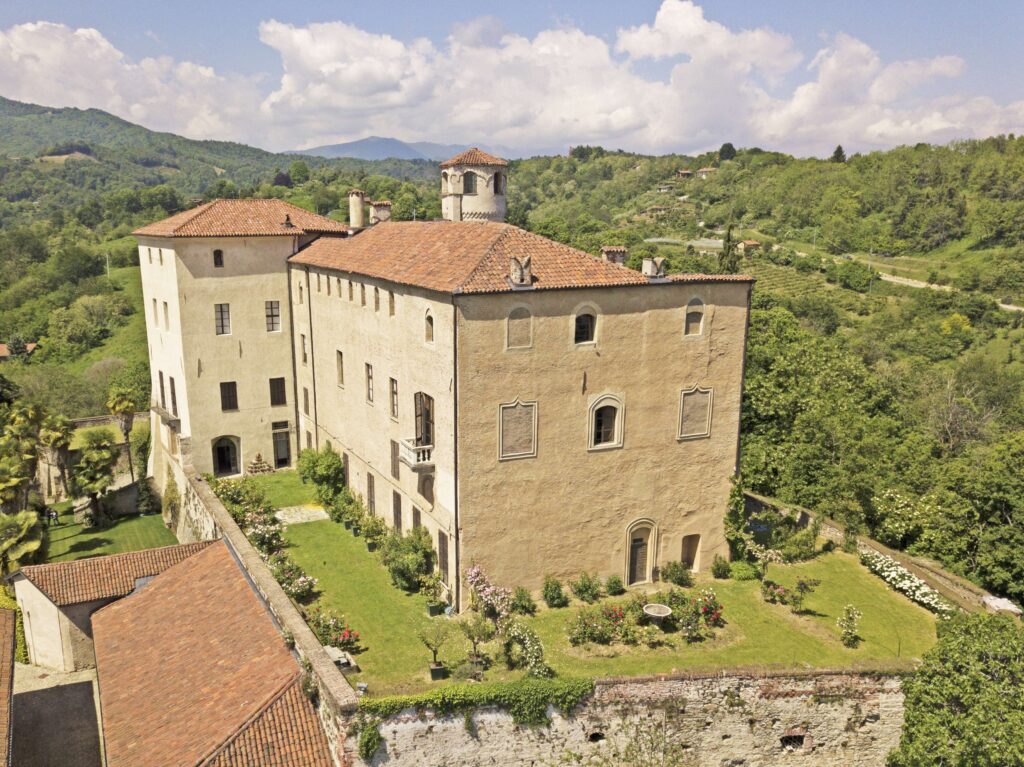
[[[1024,102],[948,90],[967,67],[958,56],[886,61],[845,34],[801,51],[778,31],[709,19],[689,0],[664,0],[610,42],[572,24],[526,37],[488,16],[437,42],[344,22],[267,20],[258,34],[281,57],[262,89],[196,62],[133,61],[96,30],[20,25],[0,31],[0,93],[271,148],[377,134],[524,150],[729,140],[821,155],[840,142],[870,150],[1024,129]]]

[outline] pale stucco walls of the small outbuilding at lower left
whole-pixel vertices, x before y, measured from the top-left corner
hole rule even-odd
[[[12,579],[17,606],[25,621],[29,661],[58,671],[91,669],[96,665],[92,613],[113,599],[57,606],[25,576]]]

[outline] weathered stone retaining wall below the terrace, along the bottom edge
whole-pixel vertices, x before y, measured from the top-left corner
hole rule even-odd
[[[897,676],[849,672],[636,678],[599,681],[571,716],[551,717],[550,727],[519,727],[480,710],[470,732],[461,714],[406,711],[381,724],[385,744],[372,764],[540,767],[571,754],[583,758],[572,764],[613,764],[616,748],[640,736],[679,744],[692,767],[869,767],[899,740],[903,694]],[[354,748],[348,758],[364,764]]]

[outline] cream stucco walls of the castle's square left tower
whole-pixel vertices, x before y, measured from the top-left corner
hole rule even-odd
[[[286,259],[301,244],[298,237],[139,238],[157,453],[178,455],[176,432],[188,440],[196,469],[215,472],[214,444],[226,437],[239,473],[257,455],[273,466],[273,424],[287,423],[289,463],[294,461]],[[278,302],[272,331],[268,301]],[[217,304],[229,307],[226,333],[217,333]],[[272,378],[284,379],[284,404],[271,406]],[[220,384],[227,382],[236,385],[237,408],[225,410]],[[151,470],[162,482],[164,470]]]

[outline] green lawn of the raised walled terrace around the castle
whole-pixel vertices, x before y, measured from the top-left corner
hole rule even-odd
[[[429,653],[416,632],[428,619],[424,600],[393,588],[387,571],[361,539],[334,522],[295,524],[286,535],[291,556],[309,574],[319,579],[322,602],[345,614],[359,631],[368,648],[358,655],[360,681],[370,694],[414,692],[431,686],[427,678]],[[540,635],[547,661],[566,676],[629,676],[673,670],[718,671],[734,667],[856,667],[909,664],[935,641],[935,617],[891,591],[850,554],[840,552],[795,565],[772,565],[769,578],[792,586],[800,576],[822,584],[806,601],[807,612],[795,615],[788,607],[767,604],[756,581],[713,581],[700,577],[698,586],[712,586],[724,605],[727,626],[714,639],[686,645],[673,637],[674,646],[647,649],[625,646],[572,647],[565,628],[579,604],[542,609],[530,620]],[[836,619],[852,603],[863,612],[863,642],[848,649],[839,640]],[[443,620],[443,619],[434,619]],[[441,650],[449,663],[463,658],[461,635]],[[509,678],[495,668],[486,678]],[[437,683],[434,683],[437,684]]]

